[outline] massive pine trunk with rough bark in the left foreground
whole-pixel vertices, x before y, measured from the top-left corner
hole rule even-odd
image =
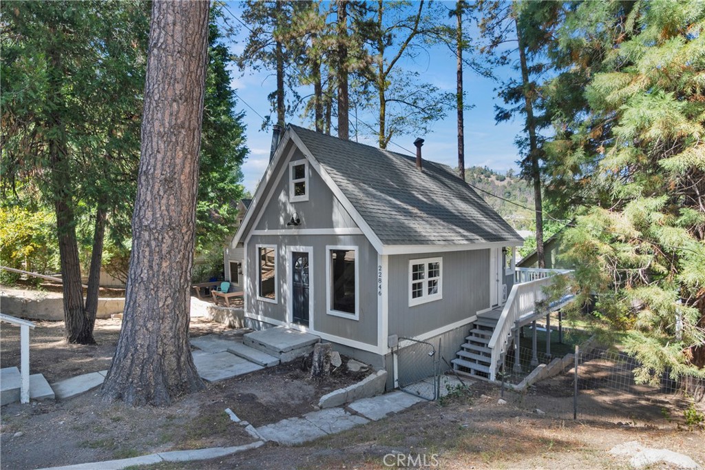
[[[123,328],[102,393],[170,404],[203,382],[188,342],[207,1],[154,1]]]

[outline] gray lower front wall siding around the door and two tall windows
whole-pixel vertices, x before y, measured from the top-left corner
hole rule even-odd
[[[256,246],[277,246],[277,303],[257,299],[257,251]],[[262,315],[280,322],[288,319],[288,278],[290,263],[287,260],[287,246],[311,246],[313,259],[309,260],[311,287],[313,289],[313,311],[309,313],[315,332],[326,333],[344,339],[375,346],[377,344],[377,252],[362,235],[253,235],[247,243],[247,277],[245,289],[247,305],[245,314]],[[326,313],[326,246],[357,246],[357,263],[360,270],[360,320],[340,318]],[[266,320],[265,320],[266,321]]]

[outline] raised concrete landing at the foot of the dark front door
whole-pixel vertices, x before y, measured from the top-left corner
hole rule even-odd
[[[320,338],[286,327],[267,328],[243,336],[243,344],[279,358],[281,362],[307,356]]]

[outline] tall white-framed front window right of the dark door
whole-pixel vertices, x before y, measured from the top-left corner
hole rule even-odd
[[[326,246],[326,311],[360,320],[360,263],[357,246]]]

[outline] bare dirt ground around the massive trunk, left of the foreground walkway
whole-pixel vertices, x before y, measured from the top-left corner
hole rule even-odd
[[[120,321],[97,320],[99,345],[94,347],[64,344],[61,322],[40,322],[32,332],[32,372],[41,371],[53,382],[108,368]],[[18,355],[18,339],[13,337],[19,334],[11,329],[3,325],[0,332],[3,366],[19,361],[12,356]],[[194,318],[190,332],[193,337],[214,332],[243,335],[245,330],[224,330],[219,323]],[[313,411],[321,396],[366,375],[341,367],[327,378],[312,380],[302,370],[302,362],[294,361],[208,384],[206,390],[162,409],[105,402],[98,389],[61,402],[9,404],[0,410],[1,468],[37,469],[166,450],[247,444],[252,437],[231,421],[226,408],[255,426],[274,423]]]

